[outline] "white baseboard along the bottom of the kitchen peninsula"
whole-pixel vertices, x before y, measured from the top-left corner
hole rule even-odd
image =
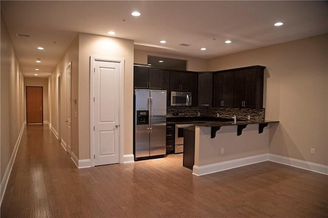
[[[233,169],[245,165],[255,164],[263,161],[268,161],[268,154],[256,155],[247,158],[240,158],[231,161],[224,161],[215,164],[209,164],[204,166],[193,166],[193,175],[203,176],[214,172],[220,172],[228,169]]]

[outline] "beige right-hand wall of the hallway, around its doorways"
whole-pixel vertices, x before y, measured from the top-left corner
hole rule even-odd
[[[78,99],[78,35],[74,38],[69,48],[66,50],[64,56],[57,63],[57,66],[51,73],[51,124],[52,128],[59,134],[61,140],[67,142],[66,134],[66,86],[67,86],[67,75],[66,69],[71,62],[72,64],[72,99]],[[58,79],[60,76],[60,92],[58,92]],[[58,104],[60,93],[60,108]],[[58,118],[60,111],[60,121]],[[77,104],[72,103],[71,105],[72,115],[78,111]],[[78,157],[78,119],[77,117],[71,116],[72,121],[72,152]]]

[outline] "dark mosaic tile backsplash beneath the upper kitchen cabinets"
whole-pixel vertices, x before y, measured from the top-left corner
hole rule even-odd
[[[180,116],[200,116],[232,118],[236,115],[237,119],[247,119],[261,121],[264,120],[265,109],[254,108],[234,108],[234,107],[187,107],[187,106],[169,106],[167,107],[167,116],[172,116],[173,113],[178,113]]]

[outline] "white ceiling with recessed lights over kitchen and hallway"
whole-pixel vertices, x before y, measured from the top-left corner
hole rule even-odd
[[[25,76],[50,75],[78,32],[113,30],[136,49],[204,59],[328,32],[327,1],[1,1],[1,11]]]

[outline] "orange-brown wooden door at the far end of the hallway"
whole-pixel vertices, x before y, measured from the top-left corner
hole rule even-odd
[[[29,123],[43,123],[43,87],[26,86],[26,119]]]

